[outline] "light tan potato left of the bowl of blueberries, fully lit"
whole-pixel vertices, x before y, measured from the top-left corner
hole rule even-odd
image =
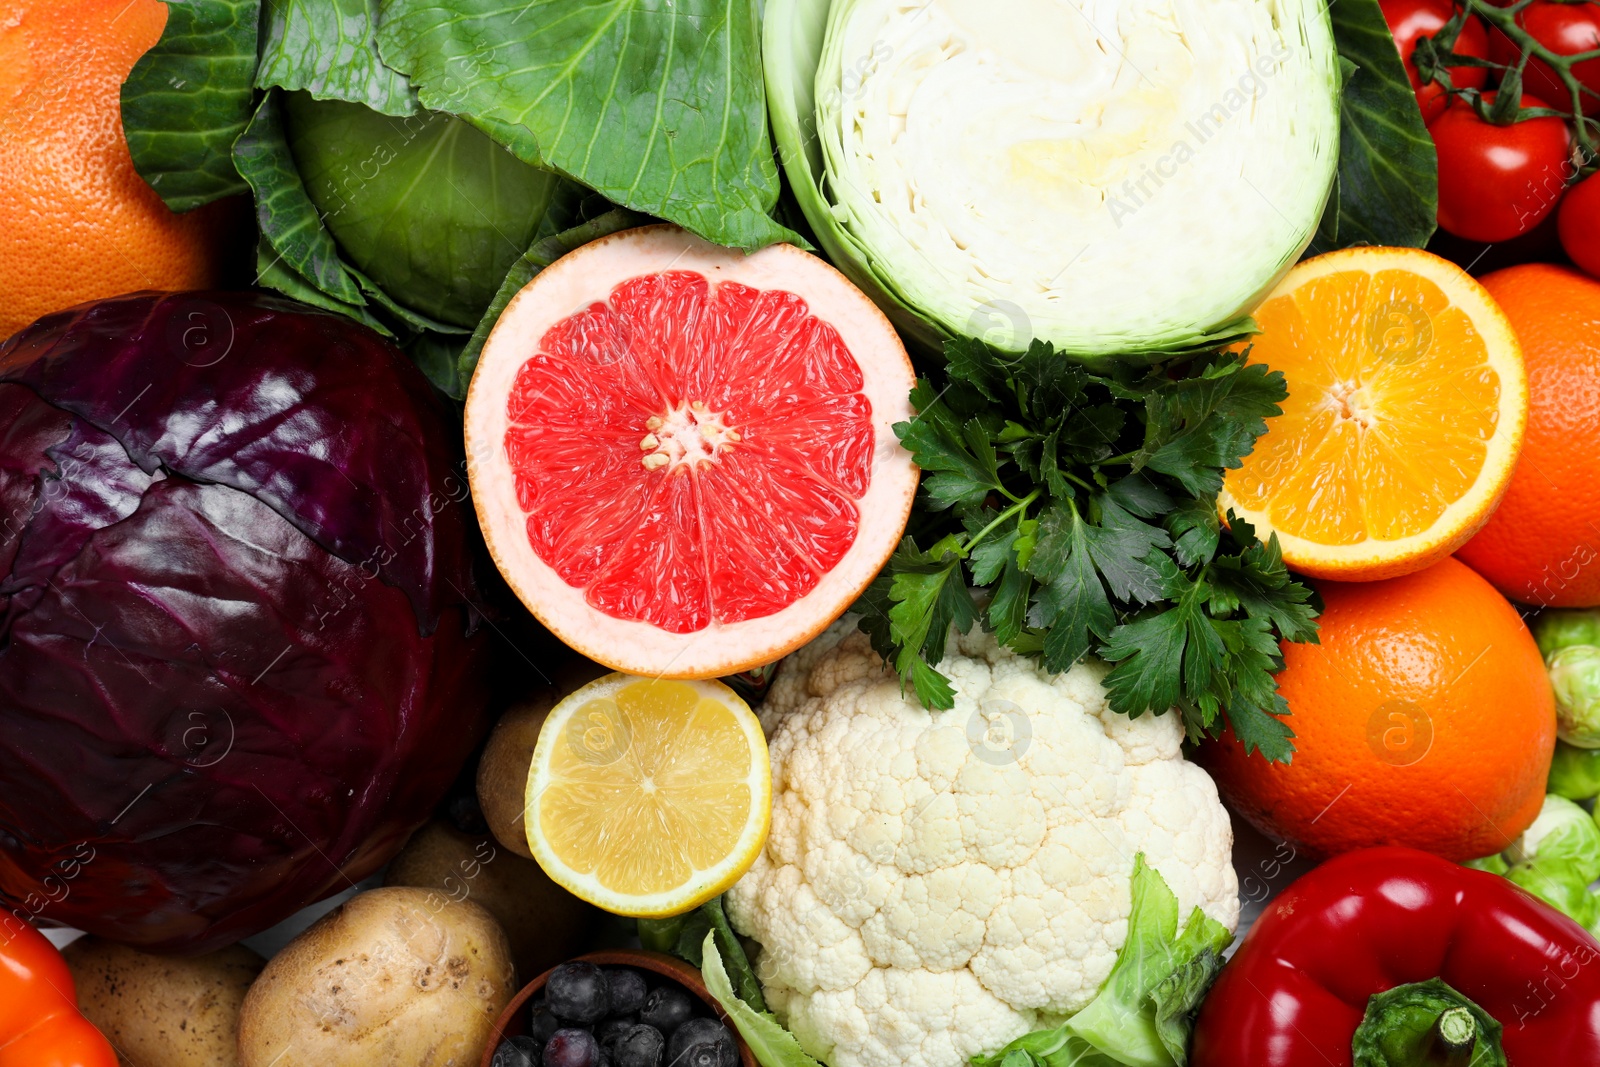
[[[488,910],[395,886],[350,897],[250,987],[243,1067],[470,1067],[515,995]]]

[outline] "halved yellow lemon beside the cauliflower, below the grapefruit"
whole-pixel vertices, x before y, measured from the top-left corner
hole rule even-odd
[[[618,915],[677,915],[731,886],[771,808],[762,725],[720,681],[590,681],[550,710],[528,769],[534,859]]]

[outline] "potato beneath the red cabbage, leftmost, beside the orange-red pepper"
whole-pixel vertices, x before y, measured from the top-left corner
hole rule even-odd
[[[176,960],[80,937],[62,955],[78,1008],[125,1065],[238,1065],[238,1009],[264,963],[250,949]]]

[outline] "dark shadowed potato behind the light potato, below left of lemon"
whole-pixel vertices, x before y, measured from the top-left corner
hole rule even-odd
[[[486,907],[506,931],[525,982],[582,952],[600,917],[550,881],[539,864],[440,819],[411,835],[389,864],[384,885],[437,889]]]

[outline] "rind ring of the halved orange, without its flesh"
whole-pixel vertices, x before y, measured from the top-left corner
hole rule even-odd
[[[1437,563],[1466,544],[1488,522],[1510,485],[1510,475],[1522,451],[1522,438],[1528,424],[1528,376],[1522,363],[1522,346],[1512,331],[1510,320],[1506,318],[1506,312],[1466,270],[1432,253],[1414,248],[1376,246],[1325,253],[1298,264],[1267,301],[1317,278],[1346,270],[1413,272],[1437,285],[1482,334],[1490,366],[1499,378],[1499,405],[1496,430],[1488,442],[1477,480],[1466,493],[1451,501],[1430,526],[1397,539],[1368,536],[1357,544],[1323,544],[1286,533],[1274,525],[1267,509],[1246,507],[1230,491],[1229,482],[1242,477],[1242,470],[1227,472],[1218,496],[1218,514],[1226,522],[1227,512],[1232,509],[1256,528],[1256,534],[1262,541],[1277,534],[1283,561],[1299,574],[1334,581],[1378,581],[1411,574]],[[1293,381],[1290,381],[1290,390],[1294,390]],[[1267,421],[1267,434],[1272,434],[1270,419]],[[1256,446],[1261,448],[1261,442]]]

